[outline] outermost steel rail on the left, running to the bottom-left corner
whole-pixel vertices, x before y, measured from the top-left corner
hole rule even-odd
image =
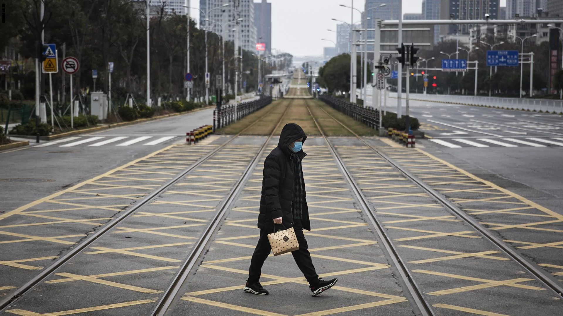
[[[288,108],[289,108],[289,105],[288,105]],[[120,214],[117,218],[115,218],[114,220],[112,220],[108,224],[105,224],[104,226],[102,226],[99,231],[92,234],[90,237],[86,238],[85,240],[83,240],[78,245],[75,245],[73,247],[73,249],[69,250],[69,252],[67,252],[65,255],[61,256],[58,260],[53,262],[47,268],[44,268],[39,274],[37,274],[37,276],[30,279],[30,281],[26,282],[23,286],[20,286],[19,288],[17,288],[17,290],[12,292],[12,294],[9,297],[5,297],[4,299],[0,300],[0,312],[2,312],[8,305],[14,303],[14,301],[19,299],[19,297],[26,294],[26,292],[31,290],[33,287],[35,287],[39,283],[41,283],[44,279],[46,279],[48,276],[50,276],[51,273],[55,272],[56,269],[59,269],[62,265],[64,265],[68,261],[72,260],[75,256],[77,256],[84,249],[86,249],[86,247],[90,246],[93,242],[97,241],[100,237],[104,236],[104,234],[109,232],[111,230],[111,228],[114,228],[117,224],[123,222],[124,219],[127,219],[130,215],[135,213],[142,206],[144,206],[144,205],[148,204],[150,201],[154,200],[154,198],[157,197],[160,193],[162,193],[163,191],[166,191],[167,188],[173,186],[173,184],[178,182],[178,180],[183,178],[187,173],[194,170],[199,165],[203,164],[203,162],[207,161],[210,157],[215,155],[218,151],[222,150],[227,145],[229,145],[231,142],[233,142],[236,139],[236,137],[240,136],[240,134],[245,132],[245,130],[247,130],[248,128],[251,128],[254,124],[256,124],[258,121],[260,121],[262,118],[264,118],[266,115],[270,114],[270,112],[272,112],[274,110],[275,110],[275,107],[272,107],[272,109],[270,111],[268,111],[265,115],[262,115],[260,119],[254,121],[252,124],[248,125],[248,127],[241,130],[233,138],[229,139],[229,141],[220,145],[215,150],[209,152],[207,155],[203,156],[201,159],[194,162],[194,164],[190,165],[188,168],[182,170],[174,178],[172,178],[172,180],[169,180],[167,183],[163,184],[163,186],[161,186],[161,187],[155,189],[153,192],[149,193],[149,195],[142,198],[142,200],[140,200],[136,204],[132,205],[129,209],[124,210],[123,213]]]

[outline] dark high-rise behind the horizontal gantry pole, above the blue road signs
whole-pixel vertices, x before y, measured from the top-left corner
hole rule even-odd
[[[510,0],[507,0],[507,2]],[[533,1],[533,0],[531,0]],[[441,20],[482,20],[489,14],[490,20],[497,20],[499,16],[499,0],[443,0],[440,5]],[[508,11],[508,8],[507,8]],[[441,35],[469,34],[475,25],[459,24],[440,28]]]

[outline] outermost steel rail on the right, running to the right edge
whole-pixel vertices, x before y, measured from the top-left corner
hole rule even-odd
[[[321,108],[319,107],[319,109],[321,109]],[[324,109],[321,109],[321,110],[324,111]],[[510,258],[512,260],[514,260],[518,264],[520,264],[520,266],[522,268],[524,268],[526,271],[528,271],[528,273],[530,273],[534,277],[538,278],[538,280],[540,282],[542,282],[550,290],[555,292],[555,294],[557,294],[560,297],[563,296],[563,287],[560,284],[557,283],[556,279],[552,278],[550,275],[546,274],[543,269],[539,268],[537,264],[535,264],[535,263],[529,261],[528,259],[524,258],[524,256],[519,254],[519,252],[512,249],[511,246],[507,245],[506,242],[500,240],[499,238],[494,236],[491,232],[489,232],[489,229],[483,227],[481,224],[479,224],[479,222],[477,222],[475,219],[473,219],[470,215],[467,215],[464,211],[459,209],[459,207],[455,206],[452,202],[450,202],[448,200],[448,198],[446,198],[445,196],[436,192],[434,189],[432,189],[430,186],[428,186],[428,184],[426,184],[421,179],[418,179],[418,177],[416,177],[415,175],[410,173],[410,171],[404,169],[402,166],[397,164],[390,157],[383,154],[375,146],[373,146],[372,144],[365,141],[365,139],[361,138],[360,136],[358,136],[358,134],[354,133],[351,129],[346,127],[346,125],[342,124],[340,121],[338,121],[332,115],[328,114],[327,111],[324,111],[324,112],[328,116],[330,116],[330,118],[332,118],[334,121],[336,121],[338,124],[342,125],[342,127],[346,128],[348,131],[350,131],[352,134],[354,134],[354,136],[356,136],[361,142],[363,142],[366,146],[368,146],[370,149],[372,149],[374,152],[376,152],[376,154],[379,155],[380,157],[382,157],[383,160],[387,161],[387,163],[390,164],[393,168],[395,168],[397,171],[399,171],[401,174],[403,174],[406,178],[408,178],[409,180],[414,182],[414,184],[416,184],[418,187],[422,188],[432,198],[435,198],[442,206],[445,207],[446,210],[450,211],[450,213],[454,214],[455,216],[458,216],[459,218],[461,218],[463,220],[463,222],[470,225],[473,229],[475,229],[477,232],[479,232],[482,236],[487,238],[490,242],[494,243],[495,246],[497,246],[505,254],[510,256]]]

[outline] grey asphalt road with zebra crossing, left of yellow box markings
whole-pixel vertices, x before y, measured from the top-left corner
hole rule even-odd
[[[186,132],[212,121],[213,110],[205,109],[0,152],[0,212],[73,186],[171,143],[185,141]],[[108,141],[111,142],[105,143]]]

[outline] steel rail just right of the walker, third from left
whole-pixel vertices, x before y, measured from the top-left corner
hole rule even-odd
[[[342,174],[344,175],[344,177],[348,181],[348,184],[350,184],[350,187],[352,188],[352,192],[354,192],[354,195],[356,196],[356,199],[358,200],[361,208],[363,209],[364,214],[366,214],[368,216],[370,222],[372,222],[373,227],[376,229],[379,240],[382,241],[383,246],[385,248],[385,251],[387,252],[388,258],[391,259],[391,261],[393,263],[393,267],[395,267],[396,272],[399,273],[401,279],[403,280],[403,285],[406,287],[409,294],[412,296],[414,302],[411,302],[411,303],[414,303],[413,307],[418,309],[418,310],[415,310],[415,313],[417,313],[418,315],[423,315],[423,316],[435,315],[434,312],[432,311],[430,304],[428,304],[427,301],[425,300],[422,290],[420,290],[420,288],[418,287],[418,285],[414,281],[414,278],[412,278],[410,276],[410,272],[409,272],[408,268],[406,267],[406,265],[404,264],[403,259],[401,259],[401,256],[396,251],[395,246],[394,246],[393,242],[391,241],[391,238],[389,238],[387,236],[387,234],[385,233],[385,231],[383,230],[383,224],[381,222],[379,222],[379,220],[376,218],[376,215],[373,213],[372,209],[370,208],[368,199],[361,192],[361,189],[358,187],[358,184],[356,184],[354,177],[350,174],[350,171],[348,171],[348,168],[346,168],[346,165],[344,164],[344,162],[342,162],[341,157],[336,152],[336,149],[334,149],[334,146],[332,145],[332,143],[330,143],[327,136],[325,136],[323,130],[319,126],[319,123],[315,119],[315,116],[312,115],[311,110],[309,109],[309,105],[307,105],[306,101],[305,101],[305,106],[307,107],[307,111],[309,111],[309,114],[311,115],[313,121],[315,122],[316,127],[319,129],[321,136],[323,136],[324,141],[327,142],[327,145],[330,149],[330,152],[332,153],[334,159],[336,160],[338,167],[341,169]],[[319,107],[319,109],[320,109],[320,107]],[[325,113],[327,113],[327,112],[325,112]],[[327,115],[329,115],[329,114],[327,113]],[[332,119],[334,119],[332,116],[330,116],[330,117]],[[334,120],[337,121],[339,124],[341,124],[346,129],[348,129],[345,125],[340,123],[338,120],[336,120],[336,119],[334,119]],[[348,130],[350,130],[350,129],[348,129]],[[350,130],[350,132],[352,132],[352,131]],[[354,132],[352,132],[352,133],[354,133]]]

